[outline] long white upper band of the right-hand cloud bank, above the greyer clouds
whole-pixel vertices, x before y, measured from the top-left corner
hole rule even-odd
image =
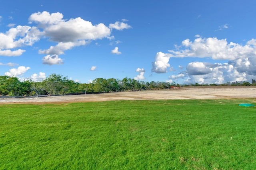
[[[256,40],[252,39],[246,45],[229,43],[226,39],[207,38],[195,39],[194,42],[186,39],[182,41],[182,45],[186,47],[184,50],[169,50],[168,57],[199,57],[218,60],[236,60],[247,57],[256,56]]]

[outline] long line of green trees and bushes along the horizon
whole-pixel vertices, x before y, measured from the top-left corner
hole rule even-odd
[[[226,84],[176,84],[175,82],[144,82],[131,78],[96,78],[91,83],[78,83],[68,80],[60,74],[51,74],[42,82],[32,80],[20,81],[17,77],[0,76],[0,95],[2,96],[35,96],[35,95],[61,95],[70,93],[98,93],[120,92],[127,90],[168,89],[171,86],[251,86],[256,85],[253,79],[249,82],[228,82]]]

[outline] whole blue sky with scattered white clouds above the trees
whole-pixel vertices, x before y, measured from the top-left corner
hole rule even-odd
[[[254,0],[4,1],[0,75],[251,82],[255,6]]]

